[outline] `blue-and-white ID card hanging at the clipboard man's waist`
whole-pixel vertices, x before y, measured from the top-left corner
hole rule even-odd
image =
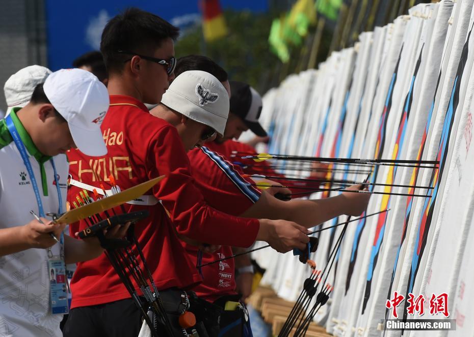
[[[67,314],[69,312],[68,291],[66,265],[63,260],[48,260],[48,277],[51,314]]]

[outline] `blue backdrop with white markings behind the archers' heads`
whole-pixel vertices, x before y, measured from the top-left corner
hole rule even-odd
[[[48,67],[70,68],[77,56],[96,49],[101,27],[126,7],[139,7],[170,22],[197,19],[198,0],[105,0],[46,1]],[[268,10],[268,0],[221,0],[223,9]]]

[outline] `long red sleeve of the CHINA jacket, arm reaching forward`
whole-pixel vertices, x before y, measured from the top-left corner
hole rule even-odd
[[[178,233],[211,244],[251,246],[259,229],[258,220],[233,217],[205,203],[174,127],[160,129],[147,148],[148,178],[165,175],[153,194],[162,201]]]

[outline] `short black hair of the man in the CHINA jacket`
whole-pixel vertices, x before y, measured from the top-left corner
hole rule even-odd
[[[128,8],[113,17],[104,27],[100,51],[109,72],[121,73],[129,55],[119,49],[147,54],[150,48],[159,48],[168,38],[176,40],[179,28],[168,21],[138,8]]]

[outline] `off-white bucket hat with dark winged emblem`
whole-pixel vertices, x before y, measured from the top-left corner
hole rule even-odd
[[[181,73],[163,95],[161,103],[190,119],[224,134],[229,115],[229,95],[213,75],[200,70]]]

